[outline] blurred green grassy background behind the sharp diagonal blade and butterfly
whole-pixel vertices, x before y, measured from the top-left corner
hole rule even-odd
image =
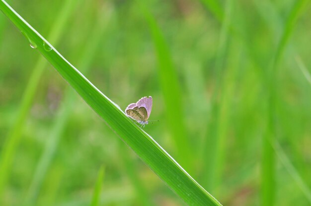
[[[311,205],[308,0],[10,5],[220,203]],[[306,70],[307,69],[307,70]],[[180,200],[0,15],[1,205]]]

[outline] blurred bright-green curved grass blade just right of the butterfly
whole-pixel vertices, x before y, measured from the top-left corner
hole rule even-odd
[[[189,170],[192,168],[190,163],[191,144],[183,121],[182,93],[177,72],[173,66],[168,45],[156,23],[156,19],[149,11],[148,5],[142,1],[141,7],[149,24],[156,49],[159,80],[166,107],[165,113],[176,145],[177,159],[180,159],[181,165]]]

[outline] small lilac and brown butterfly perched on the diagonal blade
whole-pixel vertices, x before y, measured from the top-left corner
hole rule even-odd
[[[152,97],[143,97],[137,103],[129,104],[125,109],[125,113],[145,127],[145,125],[149,123],[148,118],[151,113],[151,108]]]

